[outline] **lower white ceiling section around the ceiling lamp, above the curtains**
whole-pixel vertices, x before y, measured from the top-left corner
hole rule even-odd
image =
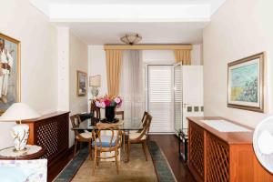
[[[69,23],[88,45],[121,44],[126,33],[139,33],[140,44],[199,44],[207,23]]]

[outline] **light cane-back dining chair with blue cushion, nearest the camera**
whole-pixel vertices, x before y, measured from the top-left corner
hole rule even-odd
[[[102,133],[102,131],[106,131]],[[109,135],[110,133],[110,135]],[[111,125],[104,125],[104,126],[97,126],[96,130],[92,131],[94,141],[92,143],[92,147],[95,148],[94,152],[94,165],[93,165],[93,173],[95,175],[96,166],[98,167],[98,163],[100,159],[107,159],[107,158],[114,158],[116,162],[116,173],[118,174],[118,155],[119,155],[119,148],[122,144],[122,132],[118,129],[117,126]],[[102,157],[101,153],[109,152],[109,155]]]

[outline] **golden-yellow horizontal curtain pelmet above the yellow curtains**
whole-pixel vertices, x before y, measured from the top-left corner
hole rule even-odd
[[[192,45],[105,45],[105,50],[192,50]]]

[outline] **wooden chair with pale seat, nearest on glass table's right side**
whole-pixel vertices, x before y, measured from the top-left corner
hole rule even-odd
[[[131,144],[141,144],[143,152],[146,157],[147,161],[147,136],[148,131],[151,125],[152,116],[147,114],[146,119],[144,121],[144,127],[140,133],[133,133],[129,135],[128,142],[127,142],[127,161],[129,161],[130,158],[130,150],[131,150]]]

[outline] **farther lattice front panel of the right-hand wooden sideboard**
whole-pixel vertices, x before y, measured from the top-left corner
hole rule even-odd
[[[196,124],[188,124],[188,167],[197,181],[204,180],[204,130]]]

